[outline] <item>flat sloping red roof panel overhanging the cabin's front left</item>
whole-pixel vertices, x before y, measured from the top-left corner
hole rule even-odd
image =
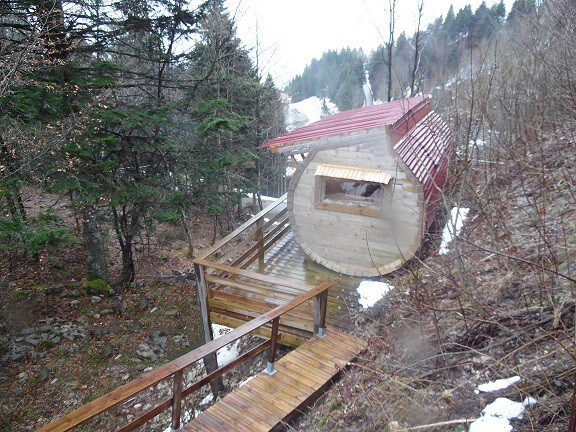
[[[411,111],[420,109],[425,105],[429,106],[429,101],[428,96],[424,95],[400,99],[381,105],[342,111],[292,132],[280,135],[268,141],[262,147],[270,148],[270,150],[273,151],[275,148],[289,146],[301,141],[375,127],[392,127]]]

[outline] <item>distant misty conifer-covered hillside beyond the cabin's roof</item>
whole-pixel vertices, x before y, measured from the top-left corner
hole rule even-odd
[[[411,37],[396,35],[390,95],[387,45],[370,54],[352,48],[327,51],[320,59],[313,59],[288,84],[286,92],[293,102],[315,96],[329,98],[340,110],[358,108],[364,104],[362,85],[367,72],[376,100],[431,93],[460,73],[470,60],[467,54],[471,48],[478,48],[503,30],[516,32],[535,9],[534,0],[516,0],[509,13],[503,0],[490,7],[482,2],[475,11],[470,5],[457,12],[450,7],[446,17],[439,17]]]

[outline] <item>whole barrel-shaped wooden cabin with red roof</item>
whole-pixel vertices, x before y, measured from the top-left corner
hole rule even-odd
[[[418,96],[343,111],[264,147],[306,154],[288,211],[307,255],[339,273],[378,276],[420,248],[441,201],[451,141],[429,97]]]

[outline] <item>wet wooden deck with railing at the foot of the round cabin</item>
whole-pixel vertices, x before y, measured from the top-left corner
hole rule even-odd
[[[236,328],[319,283],[330,282],[326,320],[345,327],[349,312],[359,307],[357,288],[362,279],[311,260],[294,238],[281,200],[275,210],[276,215],[264,210],[194,261],[197,272],[205,273],[210,322]],[[283,344],[304,343],[312,335],[310,305],[287,314],[281,331]],[[270,326],[259,334],[269,337]]]

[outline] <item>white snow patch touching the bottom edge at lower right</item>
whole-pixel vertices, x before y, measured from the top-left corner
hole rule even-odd
[[[481,417],[470,425],[470,432],[510,432],[513,429],[510,420],[522,418],[526,407],[536,403],[536,399],[531,397],[527,397],[523,402],[497,398],[486,405]]]

